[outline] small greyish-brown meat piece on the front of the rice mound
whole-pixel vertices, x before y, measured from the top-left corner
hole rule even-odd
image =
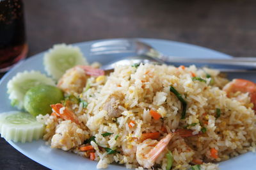
[[[108,98],[107,102],[103,105],[102,109],[108,112],[110,118],[116,118],[121,116],[122,111],[118,109],[118,98],[111,96]]]

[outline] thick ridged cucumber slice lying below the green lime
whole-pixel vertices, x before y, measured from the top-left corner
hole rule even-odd
[[[44,124],[25,112],[4,112],[0,114],[0,134],[6,141],[15,143],[38,140],[44,133]]]

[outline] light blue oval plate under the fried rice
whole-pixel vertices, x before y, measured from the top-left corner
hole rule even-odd
[[[145,39],[141,38],[140,40],[149,43],[155,47],[160,52],[166,55],[172,56],[188,56],[193,58],[230,58],[227,54],[217,52],[215,50],[206,49],[204,47],[198,47],[195,45],[189,45],[186,43],[172,42],[168,40],[156,40],[156,39]],[[99,40],[100,41],[100,40]],[[88,56],[90,45],[98,41],[93,42],[83,42],[76,43],[77,46],[81,48],[85,56]],[[22,63],[16,65],[10,72],[4,75],[3,79],[0,81],[0,112],[13,111],[15,110],[10,105],[10,100],[8,100],[8,95],[6,94],[6,84],[12,79],[12,77],[17,72],[23,72],[24,70],[39,70],[42,73],[45,73],[43,63],[44,52],[37,54]],[[103,65],[109,61],[116,59],[116,56],[108,56],[105,58],[97,57],[90,58],[88,61],[99,61]],[[243,73],[231,75],[231,77],[243,77],[243,79],[250,79],[256,81],[253,74]],[[92,160],[79,157],[74,153],[68,153],[66,151],[51,149],[49,146],[46,146],[44,141],[33,141],[32,143],[13,143],[8,141],[14,148],[19,150],[21,153],[27,157],[35,160],[39,164],[42,164],[51,169],[96,169],[97,162]],[[225,162],[220,163],[221,169],[256,169],[256,154],[249,152],[239,157],[232,158]],[[109,165],[109,169],[125,169],[124,166],[119,165]]]

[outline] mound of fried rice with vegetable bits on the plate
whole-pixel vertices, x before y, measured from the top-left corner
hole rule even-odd
[[[211,75],[211,76],[209,76]],[[201,77],[204,81],[193,80]],[[88,106],[72,103],[66,105],[76,113],[80,125],[70,120],[54,116],[38,116],[37,120],[46,125],[44,139],[52,148],[71,150],[90,157],[80,151],[84,141],[90,140],[95,150],[97,168],[106,168],[112,162],[125,164],[127,168],[143,169],[143,161],[160,139],[177,129],[193,130],[193,135],[174,135],[167,148],[157,157],[154,167],[166,169],[166,153],[172,151],[173,169],[188,169],[195,159],[204,161],[201,169],[218,169],[220,162],[241,153],[255,150],[256,116],[248,93],[227,97],[221,89],[228,80],[217,70],[197,69],[195,66],[176,68],[166,65],[116,66],[108,76],[88,77],[81,87],[73,83],[74,95]],[[90,88],[88,88],[90,84]],[[186,100],[186,118],[181,119],[182,104],[170,92],[175,88]],[[71,86],[70,86],[71,87]],[[76,88],[79,87],[79,93]],[[240,97],[241,98],[241,97]],[[219,109],[220,116],[216,113]],[[150,110],[161,115],[159,120],[152,118]],[[110,135],[103,136],[102,134]],[[141,141],[141,134],[159,132],[159,139]],[[106,149],[115,150],[108,154]],[[213,158],[211,150],[218,151]]]

